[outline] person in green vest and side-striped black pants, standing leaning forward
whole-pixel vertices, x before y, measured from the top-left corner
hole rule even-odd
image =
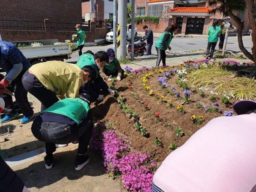
[[[170,43],[173,38],[173,34],[177,32],[178,25],[175,23],[169,27],[167,27],[164,31],[164,33],[160,36],[156,43],[156,49],[157,49],[157,64],[156,67],[159,67],[160,62],[162,60],[163,67],[166,67],[166,50],[171,50]]]

